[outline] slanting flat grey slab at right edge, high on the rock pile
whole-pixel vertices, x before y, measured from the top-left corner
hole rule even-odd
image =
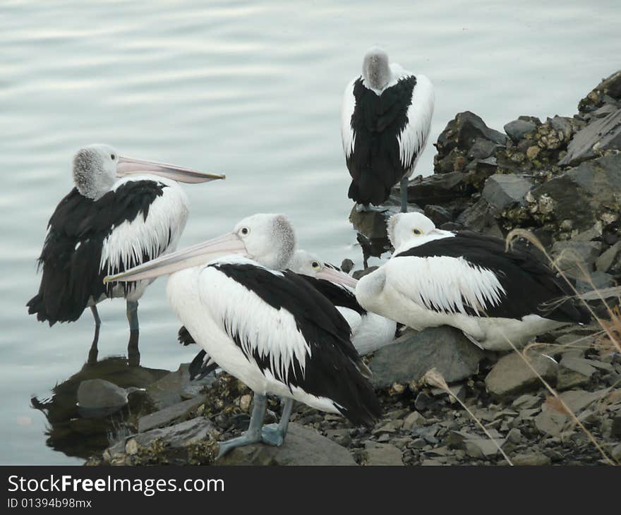
[[[575,166],[607,150],[621,150],[621,109],[579,131],[567,145],[567,155],[559,164]]]

